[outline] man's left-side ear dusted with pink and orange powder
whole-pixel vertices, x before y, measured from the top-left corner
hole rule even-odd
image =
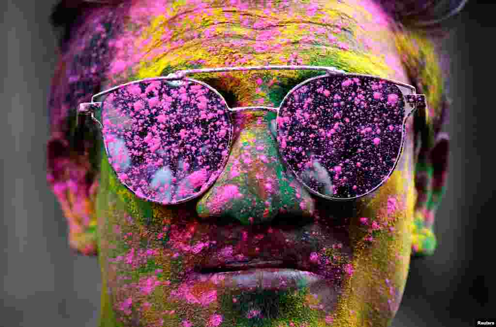
[[[74,152],[64,139],[47,146],[47,179],[69,226],[69,245],[79,253],[97,253],[95,199],[98,186],[88,153]]]

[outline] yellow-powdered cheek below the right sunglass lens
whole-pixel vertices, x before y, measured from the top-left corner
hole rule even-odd
[[[388,181],[359,204],[350,224],[355,272],[339,311],[350,326],[360,326],[359,317],[373,326],[387,326],[398,310],[410,262],[415,204],[409,145]]]

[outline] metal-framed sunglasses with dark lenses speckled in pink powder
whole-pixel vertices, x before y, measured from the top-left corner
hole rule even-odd
[[[205,82],[186,75],[250,70],[313,70],[279,107],[230,108]],[[279,154],[311,193],[329,200],[367,195],[400,158],[406,119],[425,95],[402,82],[333,67],[254,66],[182,70],[128,82],[81,103],[103,135],[119,180],[141,199],[177,204],[203,194],[223,171],[233,142],[232,114],[277,113]],[[95,100],[99,101],[95,101]]]

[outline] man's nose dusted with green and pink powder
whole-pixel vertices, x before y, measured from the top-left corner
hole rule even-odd
[[[233,113],[228,162],[197,202],[200,218],[223,217],[249,225],[270,222],[278,213],[312,214],[313,198],[279,156],[275,121],[276,114],[268,111]]]

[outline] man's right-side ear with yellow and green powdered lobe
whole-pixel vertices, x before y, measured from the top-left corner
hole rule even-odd
[[[439,133],[435,141],[421,148],[415,167],[417,202],[412,231],[412,254],[429,255],[434,252],[434,215],[444,193],[449,153],[449,140]]]

